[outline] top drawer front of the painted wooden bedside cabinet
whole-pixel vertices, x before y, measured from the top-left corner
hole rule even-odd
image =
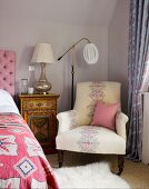
[[[44,99],[33,99],[33,100],[24,100],[22,103],[24,110],[30,109],[56,109],[57,102],[56,100],[44,100]]]

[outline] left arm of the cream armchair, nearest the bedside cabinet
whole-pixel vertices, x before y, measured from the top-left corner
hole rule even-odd
[[[60,112],[57,115],[57,119],[59,121],[58,135],[78,126],[78,116],[76,110]]]

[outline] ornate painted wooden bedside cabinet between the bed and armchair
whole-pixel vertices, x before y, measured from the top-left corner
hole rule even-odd
[[[58,94],[20,94],[20,112],[46,155],[56,152]]]

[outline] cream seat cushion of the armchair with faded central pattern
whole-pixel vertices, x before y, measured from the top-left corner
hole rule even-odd
[[[56,137],[57,149],[88,153],[126,153],[126,140],[113,130],[81,126]]]

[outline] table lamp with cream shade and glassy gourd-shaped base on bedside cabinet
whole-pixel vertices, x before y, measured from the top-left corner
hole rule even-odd
[[[49,43],[37,43],[34,47],[33,56],[31,59],[33,63],[40,63],[41,74],[39,81],[34,88],[39,93],[47,93],[51,89],[51,83],[46,77],[46,63],[54,63],[53,52],[51,44]]]

